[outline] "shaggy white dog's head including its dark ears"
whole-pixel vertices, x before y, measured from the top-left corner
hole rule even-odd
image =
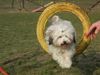
[[[67,30],[57,29],[51,33],[51,37],[49,38],[49,42],[55,46],[59,46],[62,48],[66,48],[70,46],[74,42],[74,35]]]

